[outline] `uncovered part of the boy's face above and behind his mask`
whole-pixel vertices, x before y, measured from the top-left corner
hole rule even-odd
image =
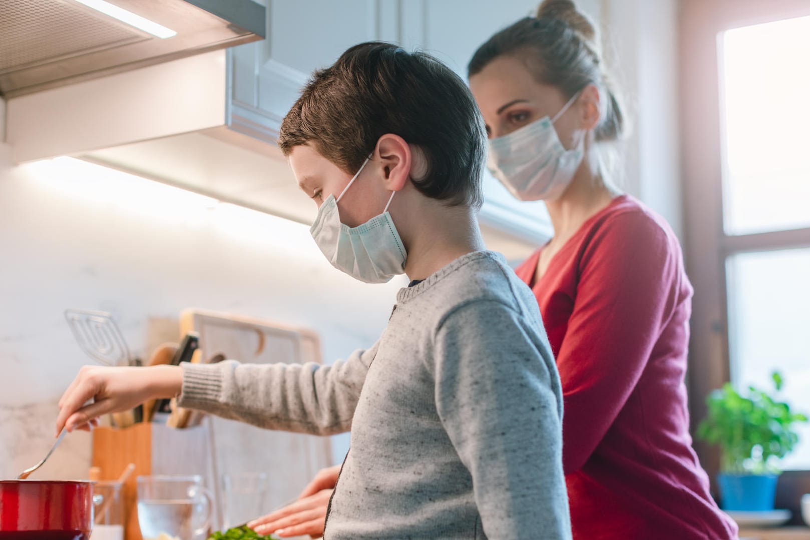
[[[318,208],[330,195],[338,198],[354,176],[354,172],[344,172],[309,144],[294,147],[289,160],[299,187]],[[383,185],[385,177],[381,177],[380,172],[373,160],[365,165],[363,172],[338,203],[342,223],[357,227],[382,213],[390,198],[390,191],[386,191]]]

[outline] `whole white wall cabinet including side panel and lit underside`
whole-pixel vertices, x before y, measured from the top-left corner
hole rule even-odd
[[[254,1],[267,8],[266,40],[9,100],[15,161],[75,155],[312,223],[314,206],[275,140],[314,69],[351,45],[386,40],[432,53],[465,77],[488,36],[536,7],[536,0]],[[578,4],[591,15],[602,6]],[[480,223],[488,247],[514,261],[552,234],[543,203],[518,202],[488,173]]]

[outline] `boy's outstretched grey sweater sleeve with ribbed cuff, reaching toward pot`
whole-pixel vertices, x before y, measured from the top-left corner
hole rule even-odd
[[[254,426],[334,435],[352,427],[365,374],[377,353],[355,351],[335,364],[183,364],[177,404]]]

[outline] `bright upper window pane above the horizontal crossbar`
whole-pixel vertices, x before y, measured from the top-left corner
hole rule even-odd
[[[727,234],[810,227],[810,16],[721,38]]]

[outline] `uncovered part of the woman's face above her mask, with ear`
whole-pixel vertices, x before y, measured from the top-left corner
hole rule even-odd
[[[557,87],[535,81],[514,56],[497,57],[470,78],[470,90],[484,115],[488,138],[503,137],[542,117],[553,118],[569,100]],[[577,104],[554,124],[563,146],[573,146]]]

